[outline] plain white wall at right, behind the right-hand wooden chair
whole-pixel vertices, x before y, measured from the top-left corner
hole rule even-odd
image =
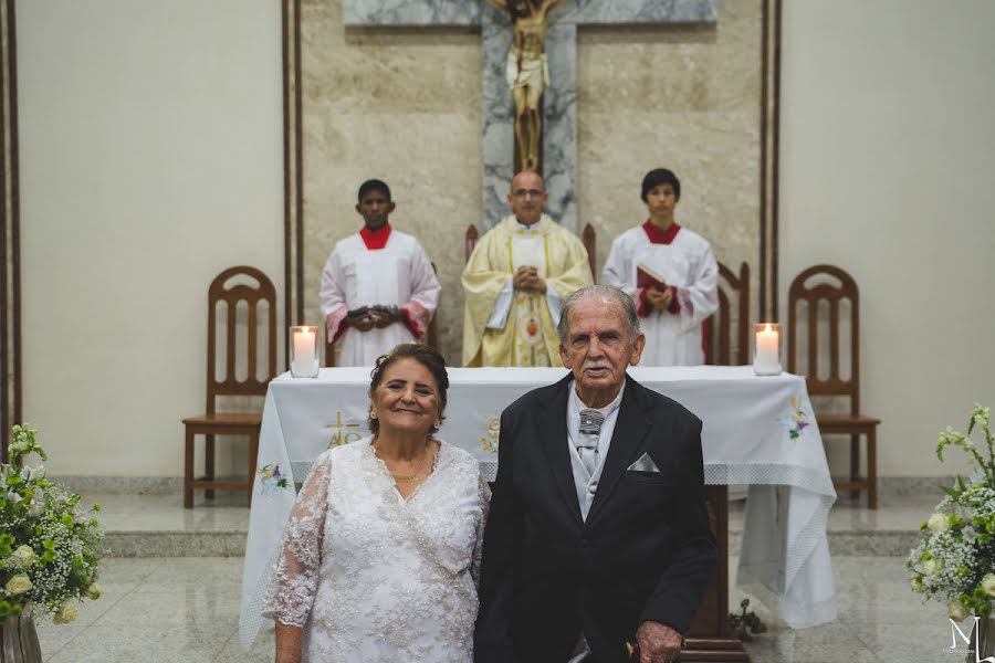
[[[989,0],[784,3],[782,292],[856,277],[881,475],[962,470],[938,431],[995,406],[993,25]]]

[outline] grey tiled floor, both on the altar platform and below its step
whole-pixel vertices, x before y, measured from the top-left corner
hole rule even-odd
[[[101,502],[101,520],[111,533],[244,533],[245,495],[219,493],[214,501],[197,496],[197,507],[181,507],[178,494],[88,493]],[[884,496],[871,512],[840,497],[829,515],[831,533],[914,532],[939,502],[924,496]],[[730,529],[742,529],[735,504]],[[839,619],[792,631],[771,620],[753,601],[771,630],[747,643],[754,663],[923,662],[960,663],[963,655],[944,650],[951,643],[945,608],[923,603],[909,590],[901,557],[834,555]],[[69,625],[39,625],[44,660],[52,663],[206,662],[262,663],[273,660],[271,633],[262,633],[249,652],[238,642],[242,558],[167,557],[105,560],[104,594],[84,602]],[[735,558],[730,558],[735,575]],[[743,592],[732,586],[737,607]]]

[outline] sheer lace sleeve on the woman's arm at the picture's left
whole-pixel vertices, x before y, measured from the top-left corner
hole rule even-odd
[[[314,463],[283,534],[283,551],[263,603],[263,615],[289,627],[304,627],[317,590],[322,536],[328,511],[329,454]]]

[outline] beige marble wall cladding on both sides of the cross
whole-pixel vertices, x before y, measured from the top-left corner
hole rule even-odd
[[[341,0],[305,0],[302,23],[306,318],[321,319],[317,288],[332,246],[362,224],[356,189],[378,177],[398,204],[391,221],[416,234],[438,267],[440,349],[455,362],[463,233],[484,215],[488,28],[348,28]],[[646,218],[645,172],[667,166],[683,183],[680,221],[708,236],[719,260],[746,260],[756,274],[760,0],[721,3],[715,23],[577,34],[573,204],[577,227],[597,230],[599,266],[611,239]],[[502,191],[489,194],[503,200]]]

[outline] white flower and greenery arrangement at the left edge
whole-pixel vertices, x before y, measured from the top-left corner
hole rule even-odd
[[[36,453],[30,424],[13,427],[10,465],[0,465],[0,620],[21,614],[29,602],[55,623],[76,618],[80,600],[97,599],[104,532],[92,511],[81,511],[80,495],[45,480],[41,465],[18,466]]]

